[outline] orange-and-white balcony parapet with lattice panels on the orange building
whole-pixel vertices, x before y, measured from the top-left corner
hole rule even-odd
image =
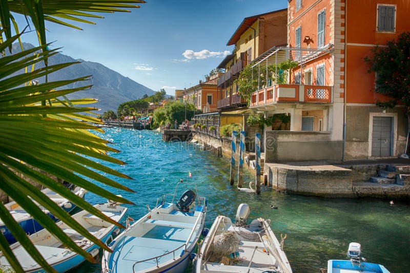
[[[251,107],[277,102],[332,103],[332,86],[276,84],[252,93]]]

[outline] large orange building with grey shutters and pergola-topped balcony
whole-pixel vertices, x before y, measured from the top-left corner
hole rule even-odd
[[[375,75],[364,57],[410,30],[406,0],[289,0],[288,47],[274,47],[251,65],[297,62],[284,82],[261,86],[251,108],[288,113],[291,131],[269,132],[267,162],[352,160],[404,151],[404,107],[376,107]],[[268,82],[268,81],[267,81]],[[296,132],[300,131],[300,132]],[[276,149],[275,149],[276,147]],[[281,147],[281,151],[278,150]]]

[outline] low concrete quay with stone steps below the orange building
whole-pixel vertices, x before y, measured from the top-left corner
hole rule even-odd
[[[268,184],[293,194],[410,199],[409,160],[265,163]]]

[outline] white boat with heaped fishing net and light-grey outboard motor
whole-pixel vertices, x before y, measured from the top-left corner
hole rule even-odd
[[[258,218],[247,225],[248,204],[238,207],[235,223],[218,216],[198,250],[195,272],[292,273],[283,240],[279,243],[270,220]]]

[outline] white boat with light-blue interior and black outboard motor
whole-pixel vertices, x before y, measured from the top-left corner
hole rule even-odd
[[[202,232],[206,199],[197,196],[195,186],[195,192],[187,190],[174,202],[181,183],[182,179],[171,202],[163,196],[153,210],[118,235],[110,246],[113,252],[104,251],[101,272],[183,272]]]

